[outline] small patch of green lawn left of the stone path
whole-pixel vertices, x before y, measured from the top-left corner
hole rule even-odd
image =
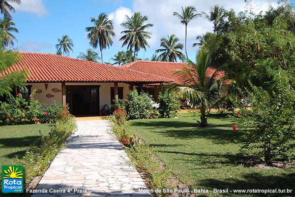
[[[0,127],[0,170],[1,165],[14,164],[12,158],[22,157],[26,149],[37,138],[47,135],[52,124],[15,125]]]

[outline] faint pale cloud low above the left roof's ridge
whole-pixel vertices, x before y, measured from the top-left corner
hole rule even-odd
[[[46,52],[52,48],[51,43],[49,42],[35,42],[31,40],[25,40],[23,45],[18,47],[20,51],[27,52]]]

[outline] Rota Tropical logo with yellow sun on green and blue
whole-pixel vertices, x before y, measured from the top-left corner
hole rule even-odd
[[[2,193],[24,192],[24,167],[22,165],[2,165]]]

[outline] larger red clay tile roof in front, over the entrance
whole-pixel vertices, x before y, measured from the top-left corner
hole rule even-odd
[[[147,74],[119,66],[110,66],[54,54],[21,52],[23,60],[9,67],[13,70],[29,69],[27,82],[142,82],[160,83],[171,78]]]

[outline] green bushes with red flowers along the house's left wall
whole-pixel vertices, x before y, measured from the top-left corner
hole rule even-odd
[[[0,103],[0,125],[56,122],[57,111],[62,105],[53,103],[43,106],[33,95],[29,99],[23,98],[20,93],[16,97],[7,95],[7,102]]]

